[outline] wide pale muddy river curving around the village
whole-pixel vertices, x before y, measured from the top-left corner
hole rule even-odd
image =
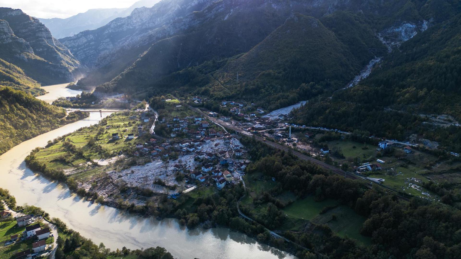
[[[65,88],[65,85],[45,87],[50,93],[47,97],[41,96],[41,99],[50,102],[51,97],[56,99],[78,94],[79,91],[74,92]],[[108,115],[102,114],[103,117]],[[60,218],[71,229],[91,238],[96,244],[104,242],[111,249],[161,246],[176,258],[184,259],[295,258],[227,228],[189,230],[176,219],[158,221],[92,204],[71,193],[65,185],[42,177],[26,167],[24,158],[35,147],[43,147],[48,140],[96,124],[100,119],[99,112],[90,112],[89,118],[24,141],[1,155],[0,187],[10,190],[18,204],[39,206],[51,217]]]

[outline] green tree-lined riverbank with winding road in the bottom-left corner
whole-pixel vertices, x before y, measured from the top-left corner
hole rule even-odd
[[[8,197],[5,197],[4,195]],[[9,218],[2,218],[0,221],[0,258],[9,259],[12,258],[15,254],[23,251],[30,251],[32,243],[35,242],[35,237],[22,240],[21,235],[23,235],[23,230],[25,226],[17,226],[17,221],[15,218],[23,217],[25,215],[30,215],[32,218],[31,224],[39,223],[41,228],[49,228],[50,236],[46,239],[46,244],[53,244],[53,248],[48,248],[44,252],[39,252],[39,254],[33,253],[34,256],[48,257],[54,259],[56,256],[58,258],[162,258],[162,259],[173,259],[171,253],[167,252],[163,247],[149,247],[143,250],[130,250],[126,247],[122,249],[117,249],[111,251],[110,248],[106,248],[103,243],[100,243],[97,246],[91,239],[87,239],[81,236],[78,232],[69,229],[67,225],[60,220],[59,218],[51,218],[49,214],[43,211],[40,207],[36,206],[18,206],[18,209],[22,212],[16,212],[10,208],[2,199],[7,199],[9,201],[15,200],[7,190],[0,188],[0,205],[3,205],[8,212],[12,215]],[[14,217],[14,218],[13,218]],[[46,224],[43,224],[46,222]],[[10,235],[18,235],[18,240],[11,242]],[[6,246],[2,246],[2,243],[6,241]],[[45,240],[45,239],[42,239]],[[35,251],[34,251],[35,252]],[[41,254],[40,254],[41,253]],[[26,253],[27,254],[27,253]]]

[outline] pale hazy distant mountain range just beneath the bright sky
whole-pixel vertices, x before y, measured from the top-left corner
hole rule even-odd
[[[90,9],[69,18],[38,18],[45,24],[55,38],[64,38],[75,35],[81,31],[99,28],[115,18],[126,17],[136,8],[152,7],[160,0],[140,0],[128,8],[100,8]]]

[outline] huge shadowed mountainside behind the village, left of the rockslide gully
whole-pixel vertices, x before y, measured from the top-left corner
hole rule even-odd
[[[136,26],[129,22],[136,15],[120,20],[125,26],[138,28],[137,34],[141,31],[139,28],[146,30],[152,26],[154,29],[148,31],[148,36],[135,38],[122,33],[124,38],[117,44],[138,46],[137,50],[130,48],[129,51],[112,43],[104,45],[110,48],[107,54],[121,55],[122,60],[133,63],[128,66],[117,60],[106,64],[109,59],[101,53],[93,63],[98,69],[79,84],[94,85],[110,80],[97,91],[147,93],[144,97],[150,97],[166,87],[210,94],[211,98],[256,100],[268,109],[278,108],[345,87],[371,59],[386,55],[378,35],[388,46],[399,46],[429,25],[443,21],[455,8],[453,1],[444,0],[440,0],[440,5],[424,0],[280,1],[277,4],[267,0],[184,1],[189,5],[182,9],[183,17],[161,28],[156,24],[158,19],[152,21],[146,14],[160,14],[165,10],[179,12],[168,9],[171,8],[168,4],[173,2],[162,1],[146,9],[143,20]],[[200,11],[186,12],[196,9]],[[325,33],[295,26],[293,30],[301,32],[298,38],[295,33],[281,36],[276,29],[293,26],[286,24],[286,19],[295,12],[317,18],[322,24],[319,28],[325,28]],[[168,18],[165,14],[162,21]],[[104,31],[115,33],[109,24]],[[87,34],[88,37],[108,36],[97,30]],[[272,37],[268,37],[271,34]],[[81,40],[83,35],[77,36],[66,39],[71,49],[72,42]],[[113,42],[112,39],[106,41]],[[141,46],[148,41],[154,43]],[[78,52],[95,54],[83,49],[87,45],[79,45]],[[136,54],[140,51],[142,53]],[[118,76],[117,72],[120,72]]]

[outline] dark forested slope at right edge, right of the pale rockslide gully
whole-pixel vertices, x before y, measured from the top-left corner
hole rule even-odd
[[[420,114],[461,119],[461,15],[404,42],[354,88],[296,112],[300,123],[404,139],[419,133],[461,150],[461,130],[422,124]]]

